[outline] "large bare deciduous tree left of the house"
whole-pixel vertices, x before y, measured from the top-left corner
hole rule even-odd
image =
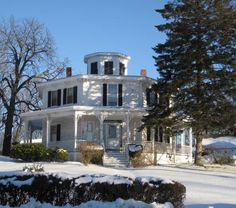
[[[48,30],[34,19],[0,23],[0,102],[4,126],[3,155],[9,155],[12,129],[19,114],[39,109],[36,84],[54,79],[64,64],[57,61]]]

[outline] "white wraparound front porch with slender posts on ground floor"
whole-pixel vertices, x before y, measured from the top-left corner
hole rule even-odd
[[[154,158],[154,163],[178,163],[192,161],[191,129],[174,138],[158,138],[153,129],[138,131],[144,110],[128,109],[50,109],[47,112],[28,112],[23,116],[25,142],[31,142],[29,135],[41,128],[42,143],[47,147],[60,147],[69,152],[70,160],[80,160],[78,145],[93,141],[105,152],[121,153],[128,159],[128,145],[140,144],[143,152]],[[39,123],[41,122],[41,125]],[[36,125],[37,124],[37,125]],[[158,130],[159,131],[159,130]]]

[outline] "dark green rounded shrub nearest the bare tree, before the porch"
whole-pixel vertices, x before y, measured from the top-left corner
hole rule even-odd
[[[10,156],[26,162],[44,161],[47,148],[43,144],[16,144],[13,145]]]

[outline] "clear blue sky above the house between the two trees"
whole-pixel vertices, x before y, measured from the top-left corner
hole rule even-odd
[[[68,58],[73,74],[86,73],[84,55],[121,52],[131,56],[129,75],[146,68],[157,78],[152,47],[165,40],[155,29],[163,23],[155,9],[167,0],[5,0],[0,16],[35,18],[54,37],[61,59]]]

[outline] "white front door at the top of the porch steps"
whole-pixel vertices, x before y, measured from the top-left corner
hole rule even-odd
[[[120,122],[106,122],[104,129],[105,129],[106,149],[119,150],[122,146],[121,123]]]

